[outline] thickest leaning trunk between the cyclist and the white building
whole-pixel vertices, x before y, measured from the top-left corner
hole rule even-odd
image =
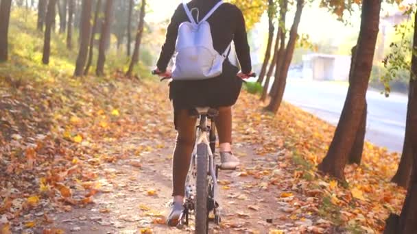
[[[287,75],[289,70],[289,65],[291,64],[292,56],[294,54],[294,49],[296,47],[296,40],[298,37],[298,25],[300,24],[302,8],[304,7],[304,0],[297,0],[297,10],[296,15],[294,16],[294,22],[291,26],[291,30],[289,31],[289,40],[287,44],[287,48],[285,49],[285,55],[281,64],[279,56],[277,60],[277,66],[275,71],[275,79],[278,79],[276,82],[276,94],[272,96],[270,101],[270,105],[266,107],[267,110],[276,113],[281,105],[281,101],[283,100],[285,86],[287,83]]]

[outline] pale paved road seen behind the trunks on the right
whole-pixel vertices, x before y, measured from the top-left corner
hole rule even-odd
[[[319,118],[337,125],[348,86],[329,81],[289,79],[284,100],[305,109]],[[377,91],[368,91],[368,124],[366,140],[401,152],[405,132],[407,96],[391,94],[385,98]]]

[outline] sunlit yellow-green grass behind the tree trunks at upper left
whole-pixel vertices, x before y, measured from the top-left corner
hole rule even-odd
[[[9,60],[0,64],[0,79],[12,76],[14,80],[53,82],[55,78],[71,77],[78,55],[78,30],[73,30],[73,49],[67,49],[67,34],[51,35],[49,64],[42,63],[44,33],[36,29],[36,12],[24,8],[13,8],[9,27]],[[58,28],[58,25],[57,25]],[[94,49],[90,74],[95,73],[97,49]],[[110,47],[106,53],[105,73],[125,72],[130,58]],[[134,74],[145,74],[149,68],[141,63],[135,66]]]

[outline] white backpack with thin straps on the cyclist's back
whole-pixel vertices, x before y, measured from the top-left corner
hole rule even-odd
[[[223,62],[226,60],[230,45],[222,55],[219,54],[213,47],[211,29],[207,22],[207,19],[222,4],[223,1],[219,1],[201,21],[195,22],[187,3],[182,3],[190,22],[181,23],[178,28],[172,79],[199,80],[222,74]],[[197,8],[193,10],[198,12]]]

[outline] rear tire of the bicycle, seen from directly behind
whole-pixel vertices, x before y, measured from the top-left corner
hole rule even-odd
[[[195,198],[195,233],[208,233],[208,152],[206,144],[198,144],[197,146],[197,178],[195,180],[195,188],[197,196]]]

